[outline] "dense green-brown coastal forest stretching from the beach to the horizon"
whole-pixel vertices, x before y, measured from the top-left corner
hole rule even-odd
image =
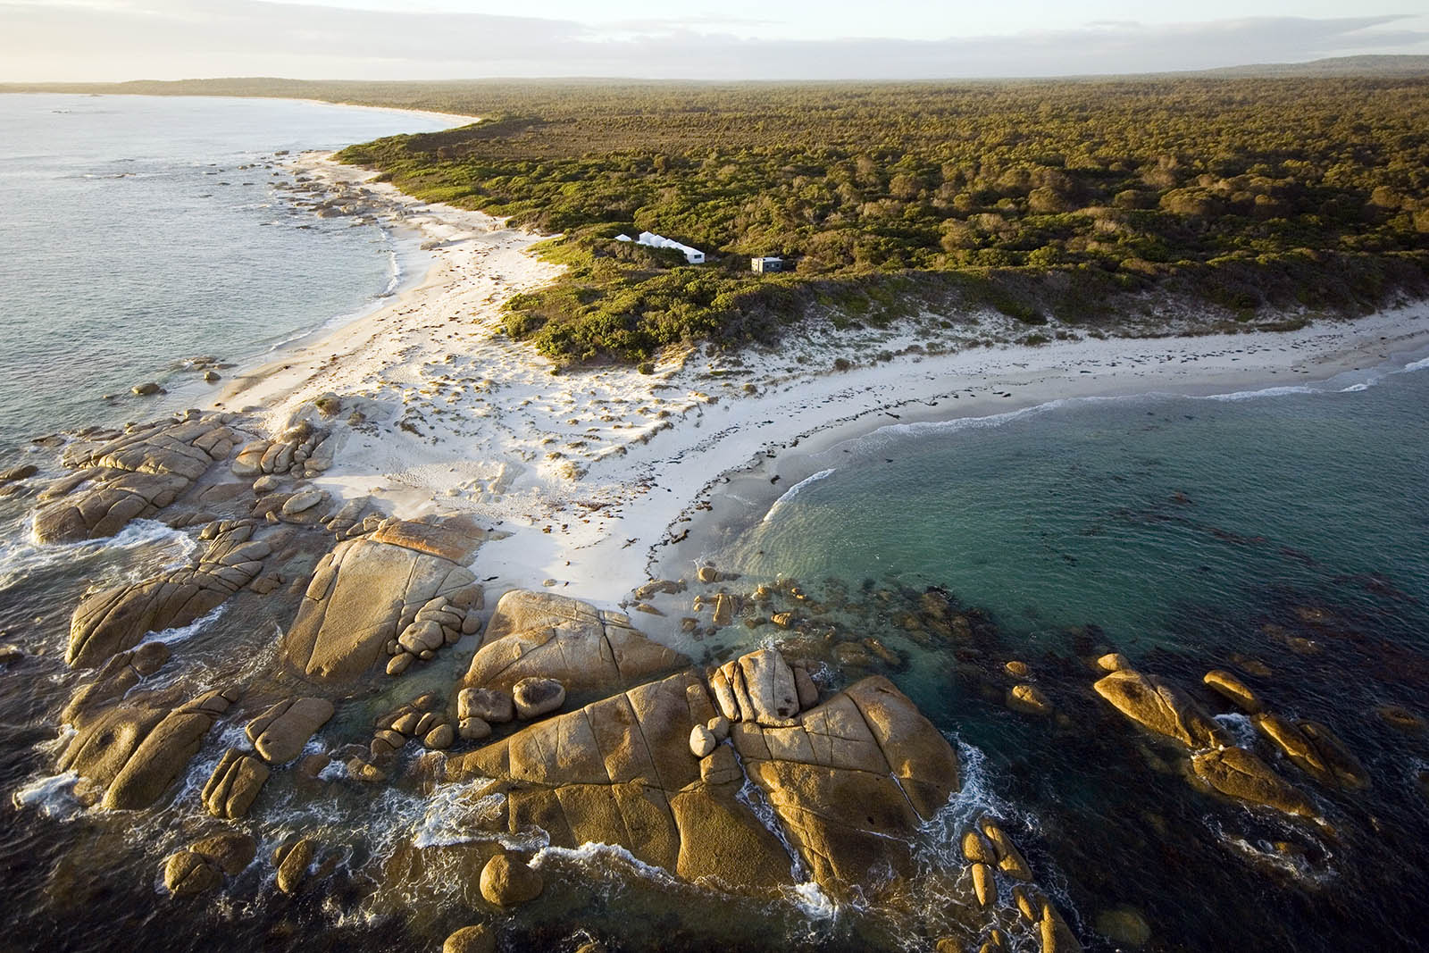
[[[544,253],[564,277],[512,301],[507,320],[559,360],[772,340],[822,306],[840,320],[992,306],[1027,324],[1103,324],[1127,294],[1155,293],[1256,326],[1429,287],[1423,76],[263,94],[482,116],[342,159],[562,233]],[[613,240],[639,230],[709,263]],[[752,274],[749,257],[766,254],[792,270]]]

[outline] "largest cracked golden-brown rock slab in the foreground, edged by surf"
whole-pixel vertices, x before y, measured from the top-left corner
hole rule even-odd
[[[756,673],[785,666],[770,649],[746,659],[736,664]],[[557,846],[619,844],[690,880],[786,884],[785,843],[840,899],[875,897],[916,873],[920,829],[959,787],[957,757],[887,679],[779,716],[779,726],[740,722],[732,744],[710,736],[694,746],[712,726],[725,730],[717,716],[709,686],[683,672],[456,756],[447,779],[494,779],[512,832],[540,827]],[[777,832],[747,796],[735,797],[746,776]]]

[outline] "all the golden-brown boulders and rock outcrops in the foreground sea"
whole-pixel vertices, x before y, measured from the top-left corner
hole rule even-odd
[[[272,437],[240,414],[190,411],[73,434],[60,454],[70,473],[16,477],[43,540],[131,520],[194,540],[189,563],[77,599],[64,654],[77,677],[56,713],[54,767],[80,803],[131,829],[183,819],[181,843],[169,837],[159,859],[156,906],[323,894],[360,873],[364,889],[340,893],[383,912],[439,869],[464,884],[474,920],[449,946],[494,949],[507,912],[563,889],[546,876],[552,850],[603,844],[717,894],[777,903],[813,890],[895,916],[902,936],[940,952],[1080,949],[997,817],[946,830],[957,753],[899,690],[905,653],[856,632],[846,599],[792,580],[745,589],[714,566],[630,593],[652,620],[666,616],[659,604],[687,606],[690,644],[739,623],[765,633],[755,650],[692,659],[623,613],[490,592],[476,573],[500,532],[337,499],[312,483],[333,463],[329,446],[317,409]],[[216,657],[203,666],[164,637],[254,606],[286,624],[206,647]],[[880,612],[913,644],[960,659],[995,640],[985,617],[935,590]],[[1208,672],[1198,700],[1115,653],[1086,666],[1085,697],[1165,746],[1147,757],[1208,799],[1335,837],[1303,783],[1369,784],[1328,726],[1275,713],[1233,672]],[[1003,684],[990,693],[1020,717],[1070,726],[1027,663],[980,677]],[[1208,709],[1218,702],[1298,776],[1229,737]],[[360,827],[287,816],[324,799],[380,812],[386,792],[450,814],[456,836],[426,844],[399,830],[377,852],[357,846]],[[930,832],[947,839],[942,850]],[[1145,926],[1135,910],[1117,916],[1099,929]]]

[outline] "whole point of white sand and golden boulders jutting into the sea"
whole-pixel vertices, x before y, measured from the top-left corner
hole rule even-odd
[[[1289,377],[1333,354],[1316,371],[1330,373],[1422,340],[1416,314],[1183,351],[1080,340],[969,357],[909,337],[847,373],[807,341],[737,367],[686,353],[654,373],[570,371],[497,330],[500,303],[550,273],[526,254],[536,236],[319,169],[337,181],[300,183],[316,213],[430,236],[416,299],[234,376],[209,410],[53,434],[54,460],[0,473],[47,552],[143,527],[184,542],[181,559],[121,566],[57,609],[69,634],[41,787],[63,786],[94,833],[54,864],[54,896],[79,906],[103,896],[96,869],[144,866],[154,916],[310,903],[397,922],[400,947],[492,950],[533,942],[522,910],[579,924],[609,903],[590,900],[593,870],[613,870],[676,906],[847,912],[860,926],[837,942],[855,946],[1146,944],[1136,907],[1070,907],[1053,863],[1067,854],[1049,842],[1089,866],[1136,849],[1175,867],[1186,830],[1147,809],[1142,829],[1083,843],[986,800],[910,699],[936,699],[913,687],[929,677],[1083,753],[1087,772],[1175,783],[1268,877],[1333,879],[1368,759],[1330,719],[1278,703],[1255,657],[1163,676],[1095,626],[1075,657],[1032,657],[933,586],[850,593],[707,563],[652,579],[653,554],[686,539],[730,470],[762,467],[766,492],[807,476],[775,461],[802,440],[953,401],[992,413],[1146,386],[1133,377],[1239,386],[1256,373],[1242,359]],[[1318,652],[1333,620],[1302,609],[1266,637]],[[27,649],[0,646],[0,666],[23,676]],[[1376,717],[1425,730],[1402,706]]]

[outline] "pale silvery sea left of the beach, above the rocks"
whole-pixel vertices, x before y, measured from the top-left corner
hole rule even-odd
[[[294,210],[273,189],[273,154],[457,121],[286,100],[0,96],[0,453],[147,419],[154,401],[100,397],[191,383],[170,366],[252,360],[369,307],[399,279],[400,243]]]

